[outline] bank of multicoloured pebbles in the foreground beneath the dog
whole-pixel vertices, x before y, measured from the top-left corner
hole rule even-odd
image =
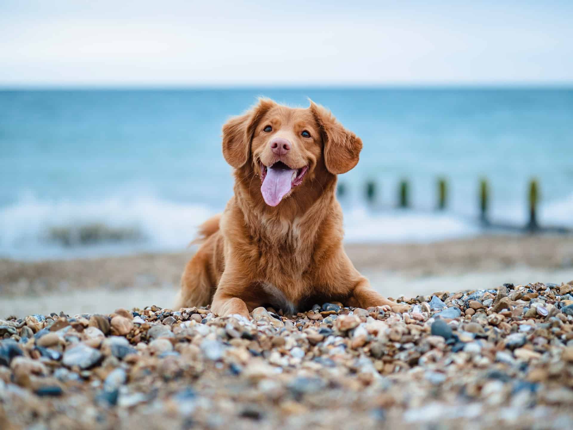
[[[461,286],[462,287],[462,286]],[[573,281],[0,320],[2,429],[570,428]]]

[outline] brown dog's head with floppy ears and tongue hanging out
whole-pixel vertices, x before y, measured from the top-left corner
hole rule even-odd
[[[223,126],[227,163],[261,178],[261,194],[269,206],[320,175],[333,178],[352,169],[360,150],[362,140],[312,101],[302,109],[261,99]]]

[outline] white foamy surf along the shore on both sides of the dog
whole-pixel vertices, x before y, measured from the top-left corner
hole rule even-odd
[[[162,200],[154,196],[102,200],[40,200],[23,196],[0,208],[0,256],[42,259],[182,251],[197,226],[223,208]],[[514,214],[521,223],[523,211]],[[540,219],[573,226],[573,196],[547,204]],[[344,208],[348,243],[427,243],[484,232],[475,218],[450,212]]]

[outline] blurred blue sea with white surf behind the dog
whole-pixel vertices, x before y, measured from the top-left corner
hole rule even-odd
[[[233,193],[223,123],[260,96],[310,98],[362,138],[358,166],[339,177],[349,243],[490,233],[482,180],[492,224],[527,224],[535,179],[539,224],[573,228],[573,88],[3,90],[0,257],[182,251]]]

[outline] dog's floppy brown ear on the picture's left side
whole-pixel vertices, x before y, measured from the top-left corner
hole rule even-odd
[[[223,157],[235,169],[244,166],[249,160],[254,130],[266,112],[275,105],[270,99],[259,99],[250,111],[231,118],[223,126]]]

